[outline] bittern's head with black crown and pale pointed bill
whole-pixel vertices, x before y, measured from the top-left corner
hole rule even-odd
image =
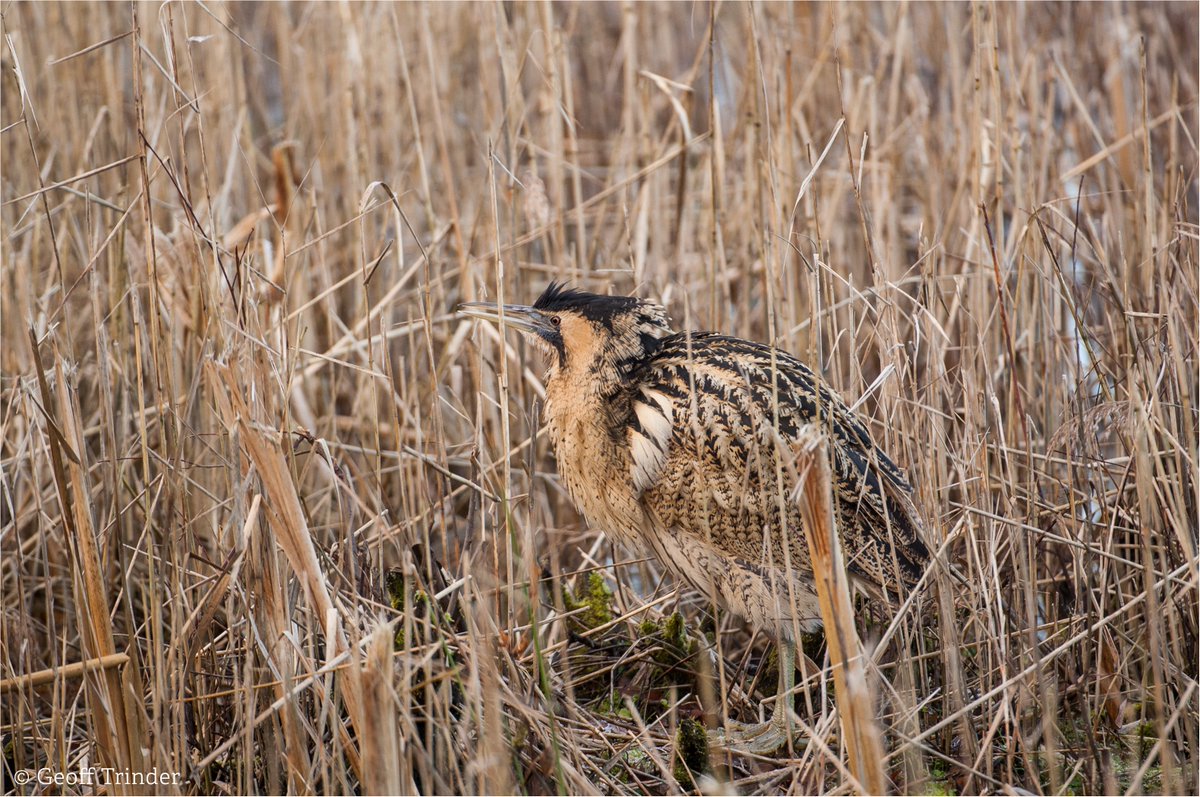
[[[502,306],[473,301],[460,314],[500,320]],[[666,312],[636,296],[604,296],[551,282],[533,306],[504,305],[503,323],[526,335],[550,358],[550,377],[593,376],[598,391],[619,386],[629,372],[671,334]]]

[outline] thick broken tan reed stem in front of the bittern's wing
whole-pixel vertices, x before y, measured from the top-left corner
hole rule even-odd
[[[796,468],[800,473],[800,515],[804,535],[812,556],[812,575],[821,603],[829,663],[833,667],[841,732],[854,773],[864,793],[882,795],[883,745],[875,720],[875,696],[866,682],[854,610],[850,600],[850,581],[841,559],[841,546],[835,533],[833,475],[824,435],[816,426],[800,430],[796,444]]]

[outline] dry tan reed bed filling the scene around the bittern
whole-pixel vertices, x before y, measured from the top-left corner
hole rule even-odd
[[[859,607],[889,789],[1195,791],[1194,4],[0,12],[5,791],[858,789],[820,640],[706,765],[766,640],[452,314],[552,277],[862,397],[970,585]]]

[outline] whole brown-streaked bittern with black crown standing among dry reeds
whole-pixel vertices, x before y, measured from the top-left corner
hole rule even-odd
[[[847,575],[876,597],[899,595],[929,562],[900,468],[838,392],[779,349],[673,332],[655,304],[554,283],[532,307],[460,307],[491,320],[502,310],[550,359],[546,430],[588,523],[776,637],[770,719],[727,723],[714,741],[779,749],[791,736],[797,635],[821,625],[788,447],[805,424],[826,430]]]

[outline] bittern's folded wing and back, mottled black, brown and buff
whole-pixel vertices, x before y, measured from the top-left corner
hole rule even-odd
[[[726,557],[718,576],[732,568],[750,581],[766,579],[760,591],[782,571],[804,581],[811,567],[788,445],[803,425],[817,424],[830,441],[850,574],[869,592],[892,594],[919,579],[929,551],[911,487],[862,420],[803,362],[736,337],[682,332],[664,338],[630,376],[634,486],[658,533],[678,549],[672,555],[648,540],[660,555],[686,559],[695,545]],[[701,580],[690,561],[672,564]]]

